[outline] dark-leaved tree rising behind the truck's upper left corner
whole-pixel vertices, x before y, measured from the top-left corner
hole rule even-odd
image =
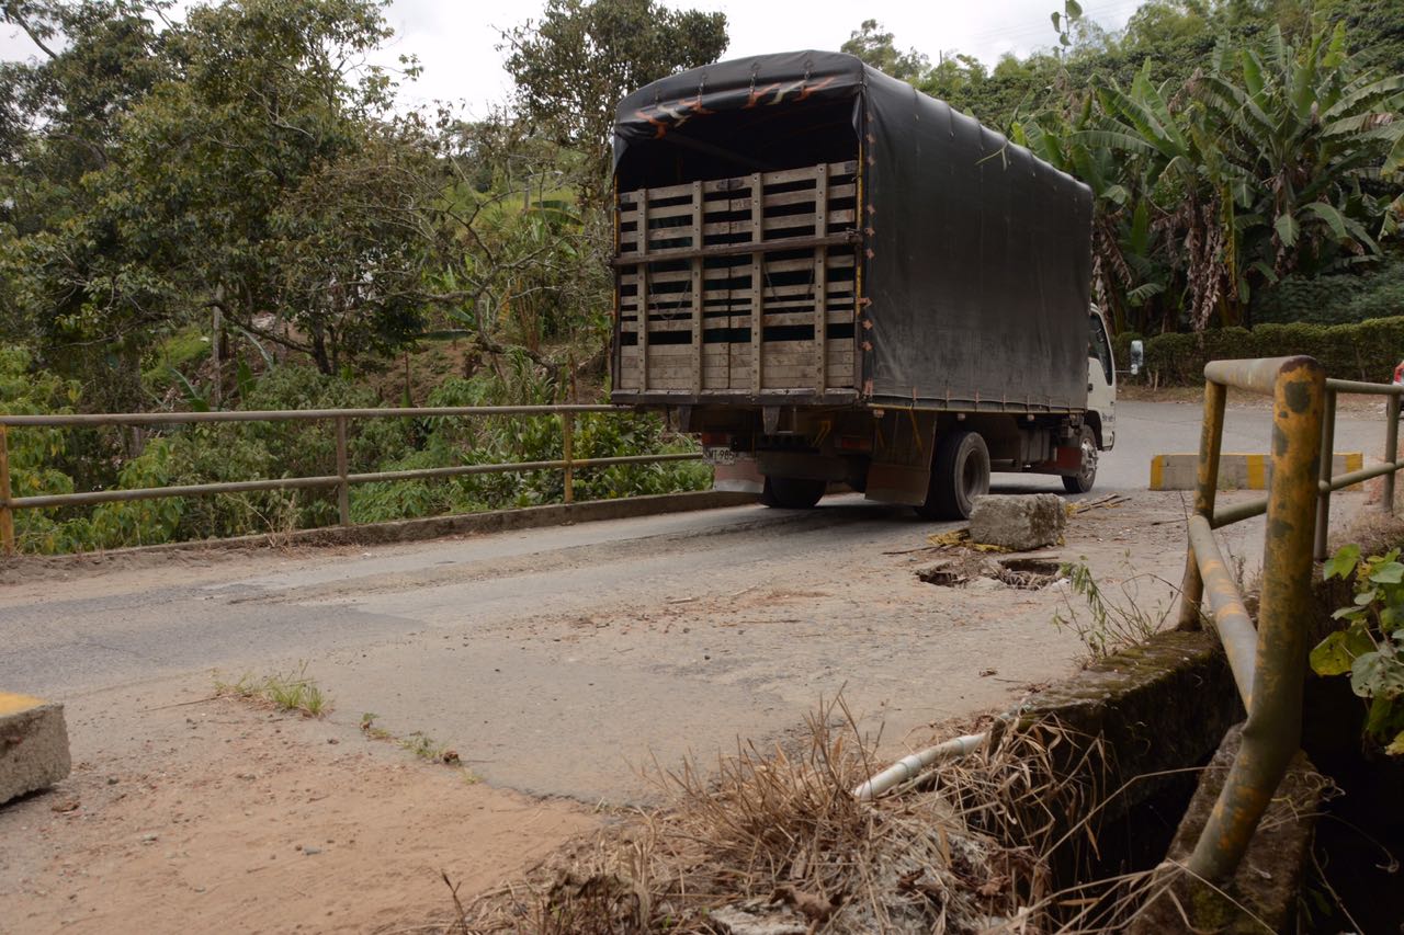
[[[727,46],[726,14],[654,0],[548,0],[539,21],[504,32],[503,44],[522,118],[581,154],[581,195],[604,206],[615,105],[650,81],[716,62]]]

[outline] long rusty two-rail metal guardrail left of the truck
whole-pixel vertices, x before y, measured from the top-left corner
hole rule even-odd
[[[576,416],[583,413],[633,413],[632,409],[604,404],[585,406],[425,406],[407,409],[303,409],[250,410],[219,413],[101,413],[74,416],[0,416],[0,548],[14,555],[14,511],[44,507],[70,507],[115,503],[125,500],[156,500],[161,497],[191,497],[257,490],[337,489],[337,515],[343,526],[351,522],[351,484],[380,480],[428,480],[461,475],[517,473],[526,470],[563,470],[566,473],[564,501],[574,503],[576,472],[584,468],[609,465],[647,465],[671,460],[699,460],[699,452],[674,455],[622,455],[618,458],[574,458]],[[449,468],[421,468],[416,470],[379,470],[352,475],[347,459],[347,423],[354,418],[421,418],[421,417],[486,417],[486,416],[559,416],[562,458],[501,465],[455,465]],[[74,494],[44,494],[14,497],[10,484],[8,430],[18,427],[74,427],[74,425],[177,425],[191,423],[286,423],[331,421],[337,439],[337,473],[314,477],[275,477],[267,480],[237,480],[174,487],[139,487],[132,490],[94,490]]]

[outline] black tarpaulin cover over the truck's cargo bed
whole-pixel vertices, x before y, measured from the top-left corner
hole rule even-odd
[[[837,52],[722,62],[619,102],[615,170],[639,184],[670,133],[716,139],[730,119],[727,145],[744,150],[764,139],[758,122],[847,100],[863,160],[858,389],[875,403],[1082,409],[1091,190],[943,101]],[[831,159],[831,142],[796,143],[781,167]]]

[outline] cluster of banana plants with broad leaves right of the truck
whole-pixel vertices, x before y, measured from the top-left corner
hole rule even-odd
[[[1129,88],[1098,81],[1080,111],[1018,136],[1097,192],[1113,309],[1160,296],[1165,330],[1181,313],[1196,331],[1248,324],[1252,295],[1280,277],[1382,257],[1404,209],[1404,76],[1360,67],[1339,27],[1294,49],[1275,25],[1248,46],[1220,41],[1182,93],[1150,76],[1147,62]]]

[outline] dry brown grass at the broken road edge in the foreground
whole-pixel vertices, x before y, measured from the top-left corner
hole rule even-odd
[[[658,771],[668,807],[459,907],[451,931],[1046,931],[1050,855],[1082,834],[1067,816],[1097,799],[1099,745],[1008,727],[981,754],[855,800],[882,765],[842,702],[821,706],[796,752],[743,745],[709,775]]]

